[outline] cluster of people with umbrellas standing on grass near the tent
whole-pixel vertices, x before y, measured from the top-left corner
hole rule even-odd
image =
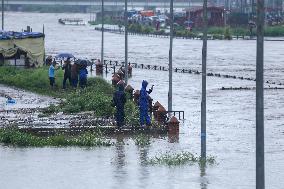
[[[66,82],[69,81],[70,86],[77,88],[78,82],[81,88],[87,86],[87,61],[81,60],[81,62],[71,64],[70,58],[62,65],[62,70],[64,70],[63,84],[62,88],[66,89]],[[55,70],[58,70],[60,67],[56,67],[57,62],[55,59],[49,66],[49,81],[51,88],[54,88],[55,85]]]

